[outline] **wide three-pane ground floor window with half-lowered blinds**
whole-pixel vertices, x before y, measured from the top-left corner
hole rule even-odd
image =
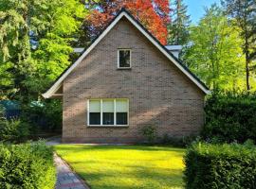
[[[87,106],[87,120],[89,126],[128,125],[128,99],[89,99]]]

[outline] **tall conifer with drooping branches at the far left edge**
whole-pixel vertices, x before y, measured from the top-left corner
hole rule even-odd
[[[0,1],[0,89],[1,95],[24,89],[32,69],[28,37],[27,1]],[[19,89],[18,89],[19,88]]]

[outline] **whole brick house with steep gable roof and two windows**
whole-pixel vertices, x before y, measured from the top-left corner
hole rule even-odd
[[[209,93],[121,9],[43,96],[63,99],[63,142],[136,143],[149,125],[159,136],[198,133]]]

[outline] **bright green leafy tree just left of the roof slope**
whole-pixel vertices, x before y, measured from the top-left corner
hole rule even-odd
[[[46,14],[36,16],[34,20],[37,22],[31,28],[33,37],[39,41],[38,47],[32,52],[36,72],[25,81],[27,88],[37,94],[44,92],[70,64],[71,45],[78,38],[86,14],[84,5],[77,0],[45,1]]]

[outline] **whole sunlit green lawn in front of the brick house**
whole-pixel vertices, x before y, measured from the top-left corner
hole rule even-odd
[[[185,149],[167,146],[55,146],[92,189],[182,188]]]

